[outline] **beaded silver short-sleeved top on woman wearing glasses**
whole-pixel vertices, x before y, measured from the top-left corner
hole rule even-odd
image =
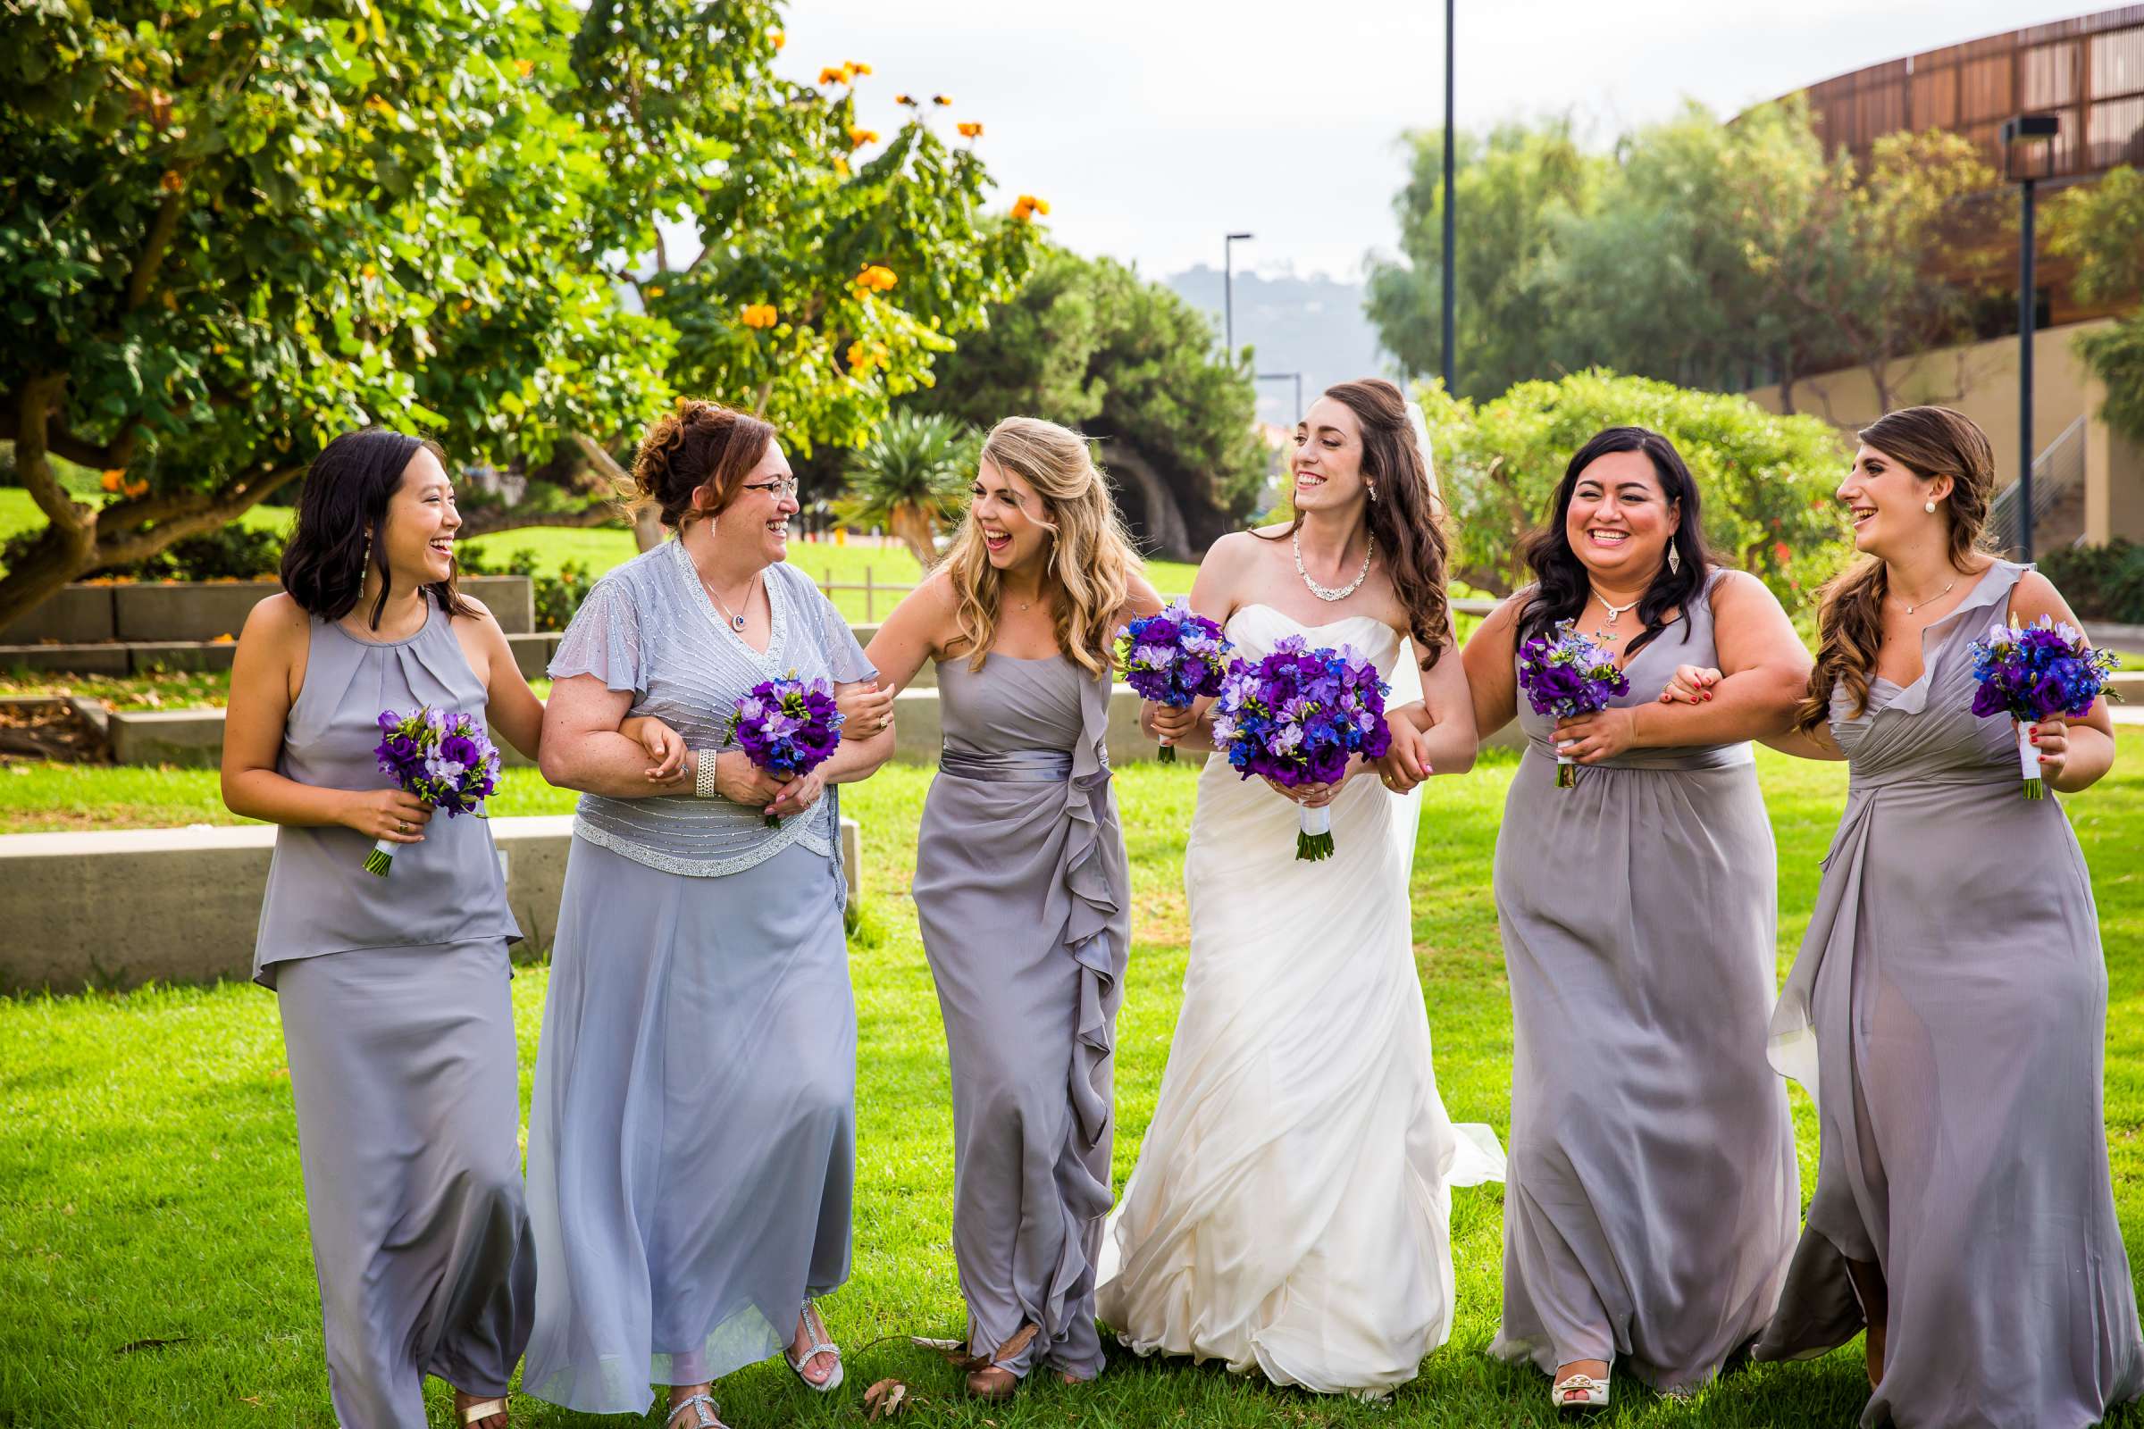
[[[765,572],[772,636],[765,653],[714,611],[693,557],[667,540],[596,581],[551,658],[551,679],[594,675],[630,690],[628,713],[656,716],[686,748],[723,748],[742,694],[791,671],[800,679],[873,679],[862,645],[810,576],[785,561]],[[770,829],[759,810],[727,799],[581,795],[572,831],[635,863],[712,878],[772,859],[789,844],[836,857],[834,788],[815,808]]]

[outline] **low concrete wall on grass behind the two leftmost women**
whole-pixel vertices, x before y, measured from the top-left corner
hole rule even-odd
[[[572,818],[493,818],[491,836],[521,934],[549,949]],[[268,825],[0,836],[0,990],[249,977],[272,851]],[[840,857],[855,891],[849,818]]]

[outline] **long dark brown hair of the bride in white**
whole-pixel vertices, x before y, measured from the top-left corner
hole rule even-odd
[[[1434,668],[1451,645],[1451,600],[1445,591],[1449,542],[1430,454],[1415,441],[1415,426],[1406,420],[1406,394],[1383,377],[1364,377],[1325,388],[1325,396],[1353,411],[1361,424],[1361,473],[1376,482],[1376,499],[1364,506],[1364,523],[1376,538],[1391,593],[1406,611],[1406,632],[1421,656],[1421,668]],[[1282,540],[1301,525],[1304,512],[1295,512],[1286,531],[1252,536]]]

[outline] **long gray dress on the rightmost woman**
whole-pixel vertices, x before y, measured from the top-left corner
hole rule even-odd
[[[1816,1099],[1810,1221],[1765,1360],[1863,1328],[1844,1260],[1887,1285],[1861,1423],[2073,1429],[2135,1399],[2144,1341],[2108,1172],[2108,971],[2058,799],[2024,799],[2011,722],[1972,713],[1968,645],[2024,566],[1921,636],[1910,686],[1831,733],[1852,767],[1771,1058]]]

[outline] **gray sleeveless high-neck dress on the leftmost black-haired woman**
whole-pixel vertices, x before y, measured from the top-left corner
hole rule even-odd
[[[392,788],[384,709],[485,713],[448,615],[407,641],[313,621],[277,769]],[[506,908],[491,827],[433,816],[386,878],[373,840],[277,829],[253,981],[274,988],[298,1105],[328,1390],[343,1425],[422,1429],[425,1375],[504,1395],[534,1309]]]

